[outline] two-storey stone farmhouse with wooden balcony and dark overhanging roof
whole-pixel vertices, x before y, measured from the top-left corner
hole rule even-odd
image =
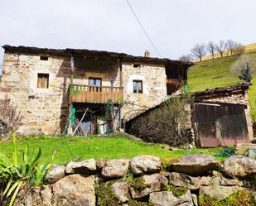
[[[2,46],[0,98],[22,113],[21,133],[104,133],[104,106],[114,102],[115,128],[162,103],[186,84],[192,65],[99,50]],[[71,121],[70,121],[71,120]],[[71,122],[71,123],[70,123]],[[69,131],[70,132],[70,131]]]

